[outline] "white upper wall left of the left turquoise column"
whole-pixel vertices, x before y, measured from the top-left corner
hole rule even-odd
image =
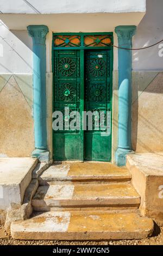
[[[32,38],[0,21],[0,74],[32,74]]]

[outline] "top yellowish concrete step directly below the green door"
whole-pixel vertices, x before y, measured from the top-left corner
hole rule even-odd
[[[51,181],[130,181],[126,167],[117,167],[106,162],[55,163],[39,177],[40,185]]]

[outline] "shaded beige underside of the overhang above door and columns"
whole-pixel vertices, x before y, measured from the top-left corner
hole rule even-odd
[[[1,0],[0,0],[1,1]],[[26,30],[28,25],[46,25],[53,32],[113,32],[119,25],[139,25],[145,13],[97,14],[0,14],[5,26]]]

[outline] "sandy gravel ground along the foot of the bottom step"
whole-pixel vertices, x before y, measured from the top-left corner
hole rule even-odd
[[[118,241],[47,241],[47,240],[15,240],[12,239],[3,227],[0,227],[0,245],[163,245],[163,227],[155,227],[152,237],[141,240]]]

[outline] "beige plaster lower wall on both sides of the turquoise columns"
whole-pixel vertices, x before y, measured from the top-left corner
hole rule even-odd
[[[163,151],[163,72],[133,71],[132,146]],[[0,75],[0,156],[31,156],[34,149],[32,75]],[[4,114],[5,113],[5,114]],[[47,141],[52,156],[52,73],[47,73]],[[112,162],[118,133],[118,71],[113,72]]]

